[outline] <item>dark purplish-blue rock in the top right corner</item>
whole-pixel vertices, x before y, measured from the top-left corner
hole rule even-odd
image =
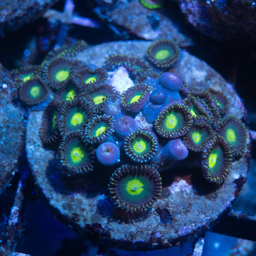
[[[220,41],[256,37],[253,0],[178,0],[187,20],[203,34]]]

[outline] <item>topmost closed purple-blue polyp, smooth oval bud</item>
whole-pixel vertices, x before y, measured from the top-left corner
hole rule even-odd
[[[171,91],[178,91],[183,85],[182,78],[178,74],[170,72],[161,73],[159,82],[163,87]]]

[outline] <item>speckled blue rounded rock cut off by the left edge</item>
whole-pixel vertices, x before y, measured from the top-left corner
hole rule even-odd
[[[24,144],[24,117],[15,99],[17,88],[0,63],[0,194],[12,180]]]

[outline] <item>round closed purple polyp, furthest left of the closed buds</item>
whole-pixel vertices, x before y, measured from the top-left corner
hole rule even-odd
[[[98,146],[96,156],[101,164],[110,166],[118,162],[120,150],[114,143],[104,142]]]

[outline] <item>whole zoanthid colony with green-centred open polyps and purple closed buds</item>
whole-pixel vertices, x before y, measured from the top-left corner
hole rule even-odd
[[[73,59],[85,47],[77,42],[51,52],[40,66],[12,72],[24,105],[54,95],[44,110],[40,136],[44,147],[56,150],[67,179],[113,170],[109,196],[131,214],[153,206],[161,196],[161,171],[189,154],[198,158],[206,182],[216,187],[225,182],[232,161],[245,151],[246,128],[226,115],[222,92],[194,88],[175,73],[151,68],[167,70],[179,60],[172,41],[152,43],[148,62],[112,55],[104,68]],[[120,67],[134,81],[123,91],[108,79],[108,72]]]

